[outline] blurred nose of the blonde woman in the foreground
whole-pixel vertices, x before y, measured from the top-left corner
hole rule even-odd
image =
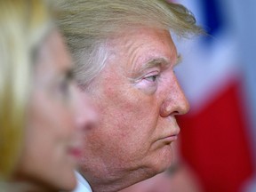
[[[86,93],[78,89],[76,88],[76,127],[81,131],[88,131],[97,124],[98,116]]]

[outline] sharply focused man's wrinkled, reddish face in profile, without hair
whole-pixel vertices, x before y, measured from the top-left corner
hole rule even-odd
[[[110,40],[108,51],[106,67],[88,89],[100,114],[99,127],[84,139],[81,170],[92,186],[95,178],[131,182],[163,172],[180,132],[175,116],[188,112],[168,31],[130,29]]]

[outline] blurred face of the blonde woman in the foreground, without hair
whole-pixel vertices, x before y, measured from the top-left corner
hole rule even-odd
[[[60,34],[52,32],[38,52],[24,148],[14,174],[14,180],[29,191],[76,187],[73,170],[82,149],[79,135],[92,122],[92,114],[68,75],[71,67]]]

